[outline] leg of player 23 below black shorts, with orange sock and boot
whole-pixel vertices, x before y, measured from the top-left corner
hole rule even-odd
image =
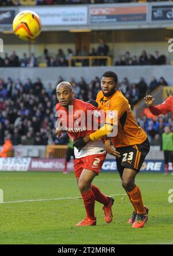
[[[134,212],[131,217],[133,228],[142,228],[148,220],[148,208],[142,202],[140,188],[135,184],[134,180],[137,172],[132,169],[124,169],[121,173],[122,186],[129,196],[130,202],[133,204]],[[135,218],[135,219],[134,219]],[[130,220],[129,220],[130,222]]]

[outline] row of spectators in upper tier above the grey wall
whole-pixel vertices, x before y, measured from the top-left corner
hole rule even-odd
[[[85,47],[77,52],[76,56],[108,56],[109,47],[102,40],[98,45],[97,49],[92,47],[91,52],[88,54]],[[34,53],[27,56],[27,53],[23,53],[22,57],[18,57],[15,51],[12,54],[5,53],[4,57],[0,56],[0,67],[38,67],[39,64],[45,64],[47,67],[67,67],[69,65],[69,58],[74,56],[72,49],[67,49],[67,53],[63,49],[58,49],[57,54],[51,56],[48,49],[44,49],[43,55],[36,57]],[[88,66],[88,60],[72,60],[72,65],[75,66],[77,63],[81,63],[82,66]],[[106,65],[106,59],[92,60],[93,66],[104,66]],[[129,52],[119,56],[118,60],[115,61],[115,65],[163,65],[166,64],[166,56],[160,55],[156,50],[152,55],[142,51],[141,56],[130,56]]]

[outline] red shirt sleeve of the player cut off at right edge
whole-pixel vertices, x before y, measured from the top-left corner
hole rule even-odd
[[[168,112],[171,112],[173,117],[173,96],[170,96],[169,98],[167,98],[166,101],[164,101],[157,107],[153,105],[150,106],[149,109],[151,110],[153,115],[159,115],[159,114],[166,115]]]

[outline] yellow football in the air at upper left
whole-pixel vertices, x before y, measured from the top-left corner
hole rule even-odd
[[[30,10],[18,13],[13,20],[14,34],[24,41],[32,41],[41,30],[42,22],[39,15]]]

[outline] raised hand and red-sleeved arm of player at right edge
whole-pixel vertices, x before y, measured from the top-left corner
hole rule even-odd
[[[153,115],[166,115],[168,112],[171,112],[173,117],[173,96],[170,96],[166,101],[158,106],[153,105],[155,98],[153,98],[151,95],[145,96],[144,100]]]

